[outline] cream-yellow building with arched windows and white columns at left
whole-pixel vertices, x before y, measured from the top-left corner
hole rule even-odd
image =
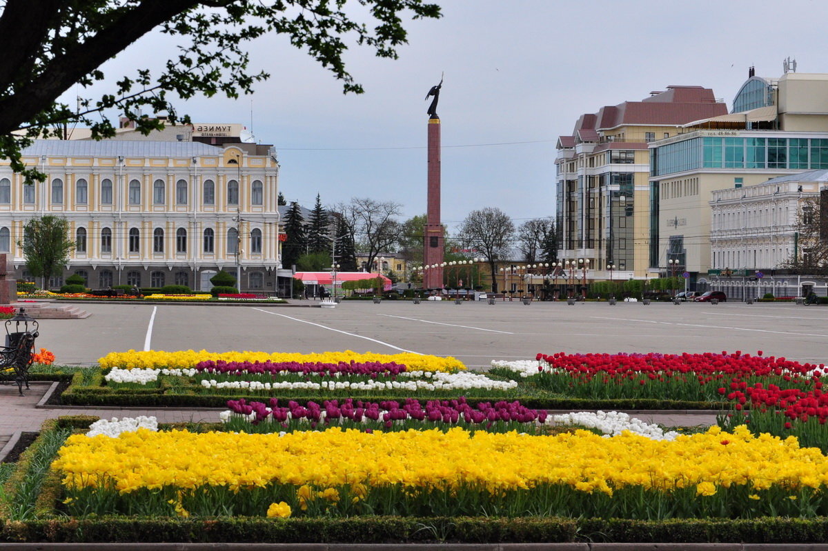
[[[87,286],[210,288],[224,270],[242,290],[276,292],[279,165],[272,146],[197,141],[37,140],[22,151],[46,180],[24,184],[0,161],[0,252],[28,278],[26,222],[66,218],[75,251],[65,276]]]

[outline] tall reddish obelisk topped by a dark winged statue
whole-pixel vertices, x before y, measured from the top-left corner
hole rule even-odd
[[[426,228],[422,247],[424,266],[434,266],[423,271],[422,285],[426,289],[439,289],[443,286],[443,242],[444,231],[440,223],[440,117],[437,116],[437,101],[440,99],[440,84],[432,86],[426,99],[434,97],[428,108],[428,195],[426,208]]]

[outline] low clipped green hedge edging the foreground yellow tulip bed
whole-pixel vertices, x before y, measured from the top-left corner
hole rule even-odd
[[[31,477],[34,456],[46,434],[60,429],[86,429],[97,419],[89,415],[49,419],[41,436],[17,463],[4,486],[14,500],[15,487]],[[258,517],[180,519],[168,517],[67,518],[55,515],[60,479],[42,472],[40,490],[29,496],[38,518],[10,520],[0,506],[0,542],[48,543],[290,543],[290,544],[531,544],[683,542],[685,544],[732,543],[725,549],[750,549],[742,544],[816,544],[828,539],[828,518],[794,519],[763,517],[750,520],[681,519],[619,520],[541,517]],[[0,504],[2,505],[2,504]],[[585,544],[584,542],[590,542]],[[517,547],[517,546],[516,546]],[[661,547],[661,546],[659,546]],[[498,548],[503,549],[503,548]],[[654,548],[655,549],[655,546]]]

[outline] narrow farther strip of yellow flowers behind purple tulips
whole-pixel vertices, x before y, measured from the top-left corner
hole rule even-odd
[[[396,362],[407,366],[408,371],[457,371],[465,370],[462,362],[454,357],[437,357],[413,352],[400,354],[377,354],[366,352],[360,354],[345,350],[344,352],[320,352],[300,354],[292,352],[207,352],[202,350],[183,350],[179,352],[109,352],[99,359],[100,367],[120,367],[121,369],[188,369],[200,362],[299,362],[299,363],[339,363],[339,362]]]

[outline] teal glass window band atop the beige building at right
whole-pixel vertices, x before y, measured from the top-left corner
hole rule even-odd
[[[828,140],[696,137],[651,150],[650,166],[653,176],[700,168],[828,169]]]

